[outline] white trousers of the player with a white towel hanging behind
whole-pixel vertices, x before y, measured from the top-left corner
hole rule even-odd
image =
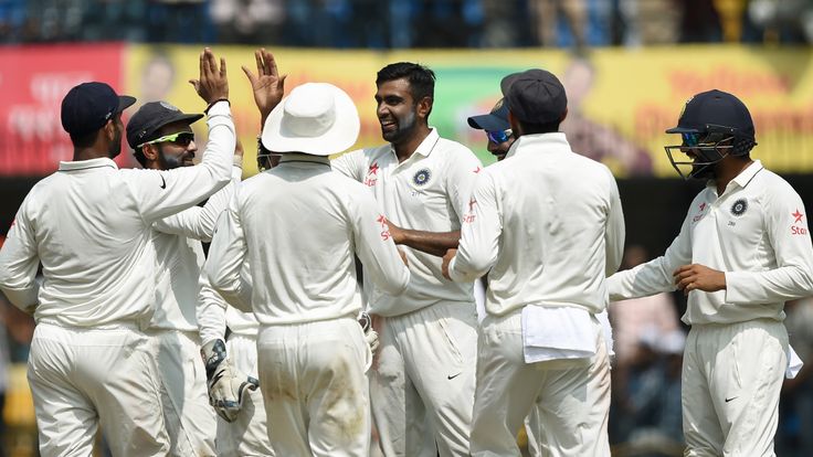
[[[610,361],[601,332],[590,359],[525,363],[521,309],[483,320],[472,456],[519,456],[516,432],[534,408],[543,456],[609,457]]]

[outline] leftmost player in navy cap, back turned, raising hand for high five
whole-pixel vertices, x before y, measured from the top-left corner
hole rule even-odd
[[[235,141],[220,102],[225,68],[209,50],[197,89],[210,104],[209,147],[199,167],[171,171],[118,170],[112,160],[134,98],[85,83],[63,99],[74,160],[31,190],[0,251],[0,288],[38,322],[28,376],[43,456],[92,455],[99,424],[114,456],[169,451],[144,333],[155,306],[151,226],[229,182]]]

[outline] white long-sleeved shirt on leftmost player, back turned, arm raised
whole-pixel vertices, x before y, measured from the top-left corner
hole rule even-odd
[[[230,180],[235,135],[229,104],[212,106],[208,124],[209,144],[197,167],[119,170],[106,158],[61,162],[17,213],[0,249],[0,289],[17,307],[35,307],[38,322],[146,327],[155,307],[152,223]],[[34,281],[38,263],[41,287]]]

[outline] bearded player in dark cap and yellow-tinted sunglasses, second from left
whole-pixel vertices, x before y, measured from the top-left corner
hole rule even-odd
[[[172,170],[193,166],[198,150],[191,124],[202,114],[183,114],[167,102],[141,106],[127,123],[127,142],[144,168]],[[218,216],[225,210],[242,174],[242,148],[236,148],[232,182],[192,206],[154,224],[158,256],[156,310],[149,334],[157,339],[163,417],[170,455],[214,456],[217,422],[209,405],[200,354],[196,308],[203,265],[201,241],[211,241]]]

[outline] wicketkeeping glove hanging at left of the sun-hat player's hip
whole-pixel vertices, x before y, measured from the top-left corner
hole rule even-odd
[[[237,418],[247,390],[256,390],[260,381],[256,378],[241,373],[226,358],[225,342],[213,340],[200,349],[203,364],[207,368],[207,386],[209,387],[209,404],[226,422]]]

